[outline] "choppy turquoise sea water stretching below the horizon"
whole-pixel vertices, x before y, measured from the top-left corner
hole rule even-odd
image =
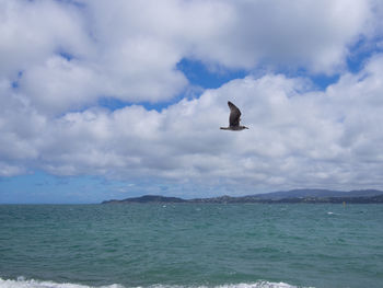
[[[0,206],[0,288],[383,287],[383,205]]]

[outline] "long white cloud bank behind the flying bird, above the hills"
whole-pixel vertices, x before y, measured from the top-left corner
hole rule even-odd
[[[302,78],[266,74],[233,80],[162,112],[90,108],[46,122],[24,106],[27,114],[21,123],[20,117],[1,117],[9,136],[2,137],[9,143],[1,145],[2,159],[58,175],[152,178],[186,191],[193,185],[217,188],[211,194],[379,187],[382,59],[372,58],[359,74],[345,74],[324,92],[310,92]],[[228,123],[227,100],[241,107],[249,130],[219,129]]]

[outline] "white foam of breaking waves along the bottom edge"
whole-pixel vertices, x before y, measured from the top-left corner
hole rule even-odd
[[[19,277],[16,280],[0,278],[0,288],[143,288],[143,287],[125,287],[119,284],[107,286],[88,286],[72,283],[40,281],[35,279],[25,279]],[[298,288],[298,286],[286,283],[256,281],[251,284],[227,284],[219,286],[194,286],[194,285],[151,285],[147,288]]]

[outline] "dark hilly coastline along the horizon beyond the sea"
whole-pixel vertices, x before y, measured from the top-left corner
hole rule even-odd
[[[105,200],[102,204],[146,204],[146,203],[185,203],[185,204],[383,204],[383,191],[327,191],[327,189],[293,189],[248,196],[220,196],[210,198],[183,199],[160,195],[144,195],[121,200]]]

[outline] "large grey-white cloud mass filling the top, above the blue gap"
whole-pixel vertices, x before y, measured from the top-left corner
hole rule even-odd
[[[169,101],[188,84],[176,70],[185,57],[249,70],[339,71],[378,16],[365,0],[76,3],[0,1],[0,73],[14,81],[22,71],[20,88],[50,114],[100,96]]]

